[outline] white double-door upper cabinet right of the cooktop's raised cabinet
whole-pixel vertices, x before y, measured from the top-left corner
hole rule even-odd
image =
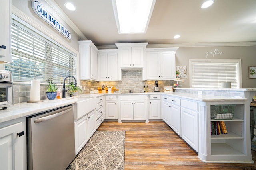
[[[177,49],[146,49],[146,80],[175,80]]]

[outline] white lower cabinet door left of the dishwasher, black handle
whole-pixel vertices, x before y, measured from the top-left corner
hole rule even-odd
[[[22,132],[22,123],[16,123],[0,129],[0,169],[22,169],[23,148],[22,137],[17,133]]]

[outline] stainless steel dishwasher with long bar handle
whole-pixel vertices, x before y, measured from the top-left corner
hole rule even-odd
[[[73,105],[27,117],[28,170],[65,170],[75,158]]]

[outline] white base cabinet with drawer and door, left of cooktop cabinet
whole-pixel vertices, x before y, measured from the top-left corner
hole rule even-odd
[[[118,104],[116,95],[106,96],[106,119],[118,119]]]

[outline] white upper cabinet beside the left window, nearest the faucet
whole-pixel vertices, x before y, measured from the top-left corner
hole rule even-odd
[[[98,80],[98,49],[90,40],[78,41],[81,80]]]

